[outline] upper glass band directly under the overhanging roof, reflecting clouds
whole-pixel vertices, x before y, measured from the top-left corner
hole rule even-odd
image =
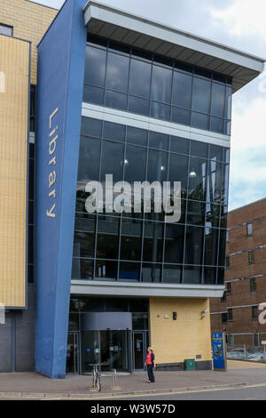
[[[231,78],[89,36],[83,101],[231,133]]]

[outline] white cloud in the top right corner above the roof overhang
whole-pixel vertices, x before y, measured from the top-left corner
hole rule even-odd
[[[231,36],[262,36],[266,39],[265,0],[234,0],[225,9],[209,9],[213,23]]]

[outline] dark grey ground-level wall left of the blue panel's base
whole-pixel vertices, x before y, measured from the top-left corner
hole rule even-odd
[[[16,372],[35,370],[35,286],[28,285],[27,310],[13,311],[16,318]],[[12,313],[0,325],[0,372],[11,372]]]

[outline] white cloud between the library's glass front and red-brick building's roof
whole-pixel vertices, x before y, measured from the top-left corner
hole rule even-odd
[[[266,197],[266,98],[235,100],[232,121],[230,209]]]

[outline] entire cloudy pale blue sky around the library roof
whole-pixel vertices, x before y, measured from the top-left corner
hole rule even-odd
[[[59,8],[64,0],[35,0]],[[266,60],[265,0],[101,0]],[[266,68],[265,68],[266,69]],[[233,95],[229,209],[266,197],[266,71]]]

